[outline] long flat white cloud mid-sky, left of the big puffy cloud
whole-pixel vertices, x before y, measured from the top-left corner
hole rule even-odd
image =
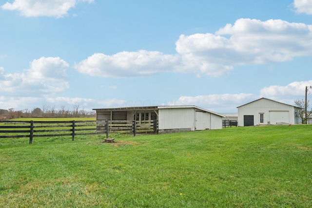
[[[113,56],[94,54],[75,68],[90,76],[131,77],[172,72],[179,64],[179,57],[157,51],[120,52]]]

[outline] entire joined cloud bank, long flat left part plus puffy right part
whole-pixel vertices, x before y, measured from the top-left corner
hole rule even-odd
[[[156,73],[222,76],[238,65],[291,61],[312,55],[312,25],[280,19],[237,19],[215,34],[181,35],[176,55],[157,51],[94,54],[75,68],[90,76],[131,77]]]

